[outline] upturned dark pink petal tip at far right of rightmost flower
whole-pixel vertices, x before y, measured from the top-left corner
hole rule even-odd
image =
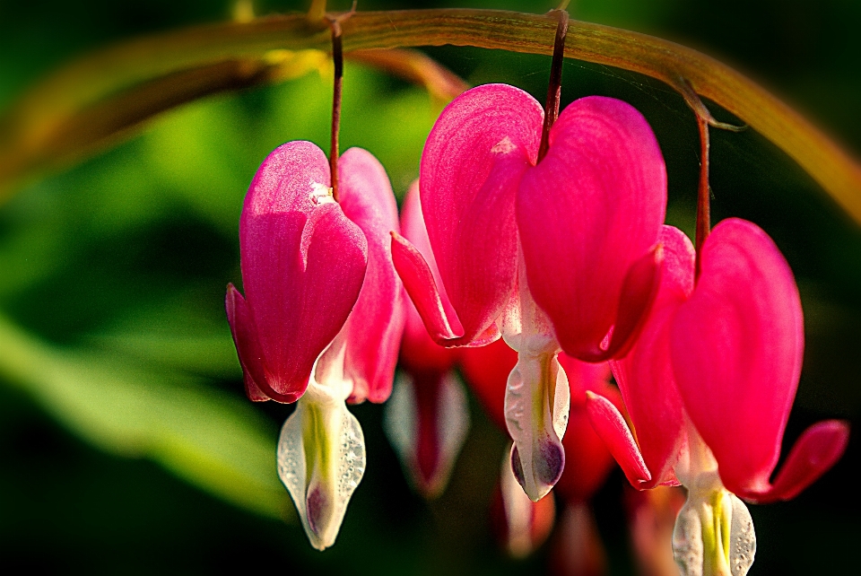
[[[744,491],[744,487],[738,487],[741,492],[737,495],[760,503],[792,500],[837,463],[846,451],[848,441],[848,423],[826,420],[813,424],[792,447],[774,484],[761,492]],[[726,487],[733,490],[729,485]]]

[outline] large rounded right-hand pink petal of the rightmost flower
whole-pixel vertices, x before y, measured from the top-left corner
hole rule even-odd
[[[764,491],[801,371],[798,289],[778,247],[744,220],[719,223],[701,263],[673,320],[675,380],[727,488]]]

